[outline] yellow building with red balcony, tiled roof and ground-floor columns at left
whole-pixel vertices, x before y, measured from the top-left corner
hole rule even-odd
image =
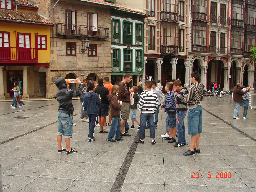
[[[37,10],[37,5],[26,0],[1,1],[0,99],[13,97],[15,81],[20,84],[23,99],[46,94],[53,24]]]

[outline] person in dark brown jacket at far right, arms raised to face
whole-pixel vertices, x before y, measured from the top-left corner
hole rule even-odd
[[[234,103],[236,104],[236,107],[234,108],[234,119],[239,119],[238,111],[240,109],[240,106],[243,100],[242,95],[250,91],[250,87],[247,87],[245,92],[241,91],[242,88],[245,88],[245,87],[242,87],[241,83],[238,83],[236,86],[234,86],[233,100],[234,100]]]

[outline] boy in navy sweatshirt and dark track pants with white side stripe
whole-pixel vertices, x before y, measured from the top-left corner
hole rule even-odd
[[[84,96],[83,107],[84,111],[88,114],[89,119],[89,132],[88,132],[88,141],[95,141],[94,139],[94,129],[96,126],[96,119],[99,112],[99,105],[101,104],[100,96],[94,92],[95,87],[93,83],[88,85],[89,92]]]

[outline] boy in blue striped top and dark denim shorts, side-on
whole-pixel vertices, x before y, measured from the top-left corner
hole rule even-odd
[[[174,101],[174,92],[173,83],[167,82],[164,90],[167,92],[166,95],[166,102],[165,104],[161,105],[161,109],[164,107],[165,111],[167,112],[166,117],[166,133],[169,133],[169,137],[164,138],[168,141],[168,143],[176,142],[176,111],[175,111],[175,101]]]

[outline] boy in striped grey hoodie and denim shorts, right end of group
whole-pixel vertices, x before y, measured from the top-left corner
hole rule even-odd
[[[187,131],[188,134],[192,136],[190,148],[183,153],[183,155],[194,155],[195,153],[200,153],[199,138],[203,128],[203,111],[200,101],[203,100],[204,85],[198,82],[199,78],[200,75],[198,72],[195,71],[191,73],[190,79],[193,84],[185,98],[188,108]]]

